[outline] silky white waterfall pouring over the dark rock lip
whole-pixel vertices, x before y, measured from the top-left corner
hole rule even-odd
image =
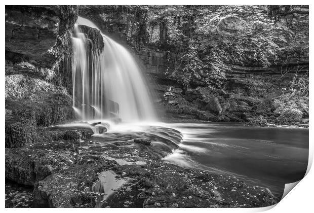
[[[132,54],[100,30],[103,49],[98,50],[82,31],[82,25],[99,30],[92,21],[79,16],[72,33],[75,112],[83,120],[155,120],[145,79]]]

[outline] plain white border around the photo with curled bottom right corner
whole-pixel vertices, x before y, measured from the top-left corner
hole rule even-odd
[[[243,0],[239,0],[239,1],[224,1],[224,0],[220,0],[220,1],[198,1],[198,0],[193,0],[193,1],[165,1],[165,0],[159,0],[159,1],[139,1],[139,0],[134,0],[134,1],[121,1],[121,0],[115,0],[115,1],[60,1],[60,0],[55,0],[55,1],[6,1],[6,4],[8,5],[43,5],[43,3],[45,5],[310,5],[310,9],[311,9],[311,2],[310,1],[269,1],[269,0],[265,0],[265,1],[243,1]],[[5,5],[2,6],[2,11],[3,14],[5,14]],[[310,24],[310,30],[309,30],[309,34],[312,34],[312,28],[311,28],[311,14],[309,16],[309,24]],[[5,29],[5,22],[2,21],[2,29]],[[311,37],[309,37],[311,38]],[[309,54],[312,55],[312,45],[311,45],[311,39],[310,39],[310,52]],[[5,47],[5,33],[2,33],[2,43],[3,43],[3,47]],[[5,52],[4,50],[1,52],[1,58],[2,58],[2,67],[5,67]],[[311,63],[309,64],[309,67],[311,67]],[[2,93],[2,105],[1,105],[1,129],[4,133],[5,131],[5,72],[3,70],[3,74],[2,74],[3,78],[2,78],[2,89],[1,89],[1,93]],[[312,78],[311,78],[312,74],[310,74],[310,88],[312,87]],[[312,105],[312,100],[313,100],[313,95],[312,92],[310,92],[309,94],[310,96],[310,106]],[[310,117],[310,124],[312,121],[312,111],[310,108],[310,113],[309,113],[309,117]],[[3,135],[4,138],[4,135]],[[311,131],[309,131],[309,141],[314,141],[313,140],[313,135],[311,133]],[[3,140],[3,168],[2,168],[2,174],[1,174],[1,179],[3,182],[3,194],[2,194],[2,199],[1,202],[3,203],[2,206],[3,208],[5,207],[5,168],[4,168],[4,162],[5,162],[5,149],[4,149],[4,140]],[[293,191],[291,193],[288,193],[286,197],[284,197],[284,199],[282,201],[280,201],[276,207],[274,206],[270,206],[270,207],[264,207],[264,208],[221,208],[221,209],[217,209],[217,208],[202,208],[202,209],[198,209],[198,211],[211,211],[211,212],[260,212],[260,211],[264,211],[264,210],[269,210],[269,212],[310,212],[313,207],[312,207],[312,193],[314,192],[314,187],[313,187],[313,182],[312,180],[314,180],[314,173],[312,170],[310,169],[311,163],[312,163],[312,159],[313,159],[313,145],[311,143],[309,143],[309,163],[308,163],[308,168],[307,168],[307,175],[304,177],[303,180],[301,180],[299,182],[299,184],[297,184],[297,186],[293,189]],[[311,209],[311,210],[310,210]],[[42,211],[42,209],[35,209],[35,208],[31,208],[31,209],[22,209],[22,208],[18,208],[18,209],[13,209],[13,208],[6,208],[6,211]],[[45,211],[48,212],[52,212],[55,209],[45,209]],[[86,210],[88,211],[109,211],[109,212],[120,212],[120,211],[128,211],[128,212],[147,212],[147,210],[150,212],[157,212],[160,211],[160,209],[139,209],[139,208],[128,208],[128,209],[123,209],[123,208],[115,208],[115,209],[75,209],[75,211],[81,211],[81,212],[86,212]],[[176,211],[191,211],[194,209],[189,209],[189,208],[184,208],[184,209],[176,209]],[[68,209],[58,209],[57,211],[68,211]],[[173,209],[171,208],[167,208],[167,209],[163,209],[163,211],[165,212],[170,212],[173,211]]]

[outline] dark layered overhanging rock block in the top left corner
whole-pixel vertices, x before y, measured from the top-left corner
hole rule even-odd
[[[41,7],[6,7],[6,49],[31,59],[53,58],[48,50],[57,41],[60,24],[55,11]]]

